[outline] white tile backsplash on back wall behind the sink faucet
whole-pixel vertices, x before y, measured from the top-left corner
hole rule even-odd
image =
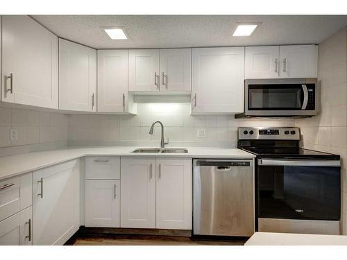
[[[237,146],[238,126],[293,126],[293,119],[235,119],[233,115],[190,115],[189,103],[138,103],[137,115],[69,115],[69,145],[158,146],[164,125],[169,146]],[[198,129],[205,137],[198,137]]]

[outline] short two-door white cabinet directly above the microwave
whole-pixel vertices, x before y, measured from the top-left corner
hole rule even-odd
[[[316,45],[246,47],[246,78],[316,78]]]

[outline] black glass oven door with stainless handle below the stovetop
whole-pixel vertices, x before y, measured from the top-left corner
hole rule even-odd
[[[257,217],[339,220],[339,160],[257,160]]]

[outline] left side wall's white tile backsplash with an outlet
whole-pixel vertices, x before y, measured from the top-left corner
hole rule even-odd
[[[18,139],[10,141],[10,129]],[[67,146],[67,115],[0,103],[0,157]]]

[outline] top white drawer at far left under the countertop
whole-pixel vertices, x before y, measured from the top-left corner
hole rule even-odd
[[[0,221],[32,203],[32,173],[0,181]]]

